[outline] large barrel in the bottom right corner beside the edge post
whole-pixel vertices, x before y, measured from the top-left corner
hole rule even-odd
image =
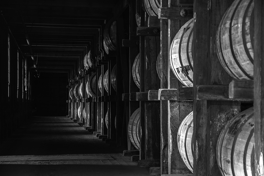
[[[231,119],[221,132],[216,159],[223,176],[254,176],[254,108]]]

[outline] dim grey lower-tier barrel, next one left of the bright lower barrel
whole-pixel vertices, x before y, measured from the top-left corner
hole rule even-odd
[[[140,108],[136,109],[129,119],[128,136],[132,144],[139,150],[139,143],[141,139]]]

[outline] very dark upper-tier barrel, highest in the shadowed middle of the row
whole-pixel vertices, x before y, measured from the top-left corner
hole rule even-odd
[[[116,50],[116,21],[113,18],[106,23],[104,41],[109,50]]]

